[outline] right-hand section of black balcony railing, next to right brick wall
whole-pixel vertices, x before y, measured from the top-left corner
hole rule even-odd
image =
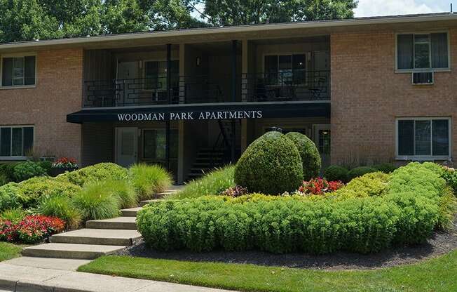
[[[290,70],[243,76],[243,100],[330,100],[330,72]]]

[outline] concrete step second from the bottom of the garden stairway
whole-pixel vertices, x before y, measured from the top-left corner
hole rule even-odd
[[[96,244],[131,246],[141,239],[137,230],[81,229],[55,234],[50,242],[59,244]]]

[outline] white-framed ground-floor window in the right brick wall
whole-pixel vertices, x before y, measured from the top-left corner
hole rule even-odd
[[[451,158],[451,118],[398,118],[395,124],[397,159]]]

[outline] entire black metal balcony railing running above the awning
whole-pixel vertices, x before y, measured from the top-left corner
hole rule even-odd
[[[329,71],[244,74],[237,81],[237,101],[330,100]],[[166,76],[84,82],[83,107],[124,107],[177,103],[231,102],[231,76]],[[241,88],[241,96],[239,95]]]

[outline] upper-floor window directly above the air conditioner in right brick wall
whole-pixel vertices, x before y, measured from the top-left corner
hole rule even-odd
[[[446,32],[397,35],[397,69],[448,68],[449,49]]]

